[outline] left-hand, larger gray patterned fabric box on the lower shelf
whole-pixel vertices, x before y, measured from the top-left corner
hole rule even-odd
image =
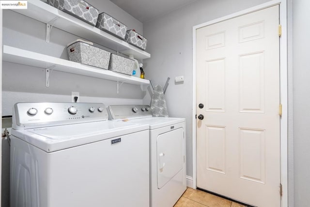
[[[68,44],[69,60],[108,70],[111,53],[92,44],[82,40]]]

